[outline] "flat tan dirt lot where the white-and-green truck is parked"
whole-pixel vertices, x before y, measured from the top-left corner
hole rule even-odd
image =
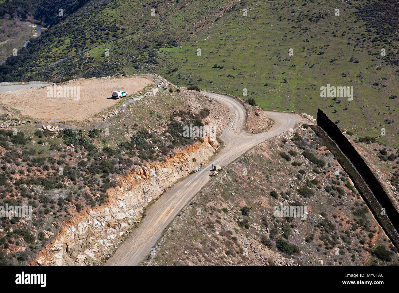
[[[47,87],[51,87],[53,92],[51,85],[0,91],[0,102],[20,111],[22,115],[46,122],[82,121],[116,104],[119,100],[111,97],[113,91],[124,90],[128,96],[131,96],[152,83],[147,77],[77,79],[59,83],[57,87],[77,87],[76,93],[79,88],[79,99],[76,98],[77,95],[73,96],[71,93],[69,96],[53,94],[49,97]]]

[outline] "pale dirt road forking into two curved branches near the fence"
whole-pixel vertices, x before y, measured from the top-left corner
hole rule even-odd
[[[269,112],[266,114],[275,125],[266,132],[251,135],[241,132],[245,125],[245,110],[233,98],[203,92],[226,104],[234,113],[231,123],[223,130],[221,139],[225,146],[205,168],[170,187],[147,211],[140,226],[123,242],[106,265],[137,265],[150,253],[158,238],[172,219],[210,180],[212,164],[225,167],[245,151],[257,144],[292,128],[301,118],[294,114]]]

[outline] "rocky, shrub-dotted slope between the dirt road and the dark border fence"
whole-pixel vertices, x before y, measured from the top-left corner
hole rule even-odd
[[[259,144],[220,171],[156,247],[142,264],[399,263],[351,179],[306,124]]]

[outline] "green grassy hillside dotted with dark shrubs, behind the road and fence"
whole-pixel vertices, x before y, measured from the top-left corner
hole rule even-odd
[[[398,12],[393,0],[91,1],[7,59],[0,80],[156,72],[241,97],[247,88],[264,109],[319,107],[359,137],[385,128],[378,140],[398,146]],[[321,98],[327,84],[353,87],[353,100]]]

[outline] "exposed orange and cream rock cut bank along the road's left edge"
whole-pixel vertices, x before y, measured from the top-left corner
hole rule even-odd
[[[203,142],[175,151],[164,163],[136,167],[119,177],[119,185],[108,190],[107,203],[64,222],[30,265],[101,264],[137,226],[145,209],[168,187],[205,164],[217,148],[215,140],[203,138]]]

